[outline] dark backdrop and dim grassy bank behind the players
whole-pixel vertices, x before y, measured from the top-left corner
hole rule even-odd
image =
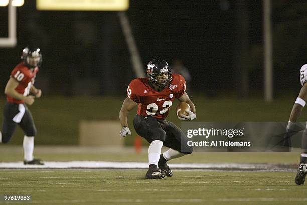
[[[163,58],[170,65],[181,59],[192,76],[189,94],[199,120],[287,120],[300,87],[299,68],[306,63],[306,3],[272,1],[275,101],[271,104],[262,100],[260,2],[130,1],[129,5],[127,16],[143,67],[152,58]],[[5,37],[7,8],[0,7],[0,19],[0,36]],[[0,48],[0,90],[22,49],[39,46],[44,60],[35,85],[42,88],[43,97],[31,106],[39,131],[37,144],[77,144],[79,120],[118,119],[127,85],[136,76],[117,12],[38,11],[35,1],[25,1],[17,8],[17,40],[14,48]],[[247,78],[242,77],[245,71]],[[3,107],[4,93],[0,96]],[[214,107],[217,102],[228,108],[229,115]],[[278,103],[284,106],[272,106]],[[281,116],[263,112],[269,109]],[[179,124],[172,112],[169,119]],[[10,143],[21,144],[21,137],[19,130]]]

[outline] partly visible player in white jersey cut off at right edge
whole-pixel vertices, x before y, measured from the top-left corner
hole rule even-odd
[[[298,117],[300,116],[306,101],[307,101],[307,64],[303,65],[300,69],[300,84],[302,88],[296,98],[293,105],[288,126],[287,126],[287,136],[285,137],[284,145],[288,146],[290,144],[290,133],[295,130]],[[302,185],[305,182],[305,177],[307,173],[307,130],[304,130],[302,137],[302,152],[300,154],[300,163],[297,169],[297,175],[295,177],[295,183],[297,185]]]

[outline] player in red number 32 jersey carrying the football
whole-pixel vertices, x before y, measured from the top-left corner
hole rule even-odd
[[[168,63],[162,59],[151,60],[147,65],[147,78],[134,79],[128,86],[128,97],[119,113],[122,126],[120,136],[131,134],[128,127],[128,112],[138,105],[137,115],[133,121],[134,129],[150,143],[149,169],[145,176],[147,179],[172,176],[172,170],[166,162],[191,154],[193,151],[193,147],[187,145],[188,138],[181,129],[165,119],[176,98],[191,107],[191,111],[186,110],[189,116],[182,115],[179,119],[196,118],[195,106],[185,90],[185,79],[179,74],[172,74]],[[163,145],[170,149],[161,154]]]

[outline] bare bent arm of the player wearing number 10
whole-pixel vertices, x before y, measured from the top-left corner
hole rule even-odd
[[[33,96],[23,96],[22,94],[18,93],[15,90],[18,85],[19,85],[19,82],[15,80],[13,77],[10,77],[5,87],[5,94],[13,97],[16,100],[24,100],[26,104],[32,105],[34,103],[34,97]]]

